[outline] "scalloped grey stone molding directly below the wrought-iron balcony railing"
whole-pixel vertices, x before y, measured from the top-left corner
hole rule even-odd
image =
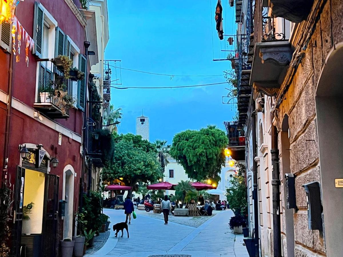
[[[262,63],[272,63],[277,66],[286,66],[292,60],[291,46],[260,48]]]

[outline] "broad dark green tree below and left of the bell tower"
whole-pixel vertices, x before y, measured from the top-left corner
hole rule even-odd
[[[103,169],[103,180],[112,182],[123,178],[123,182],[131,188],[137,182],[147,183],[162,177],[161,166],[157,160],[156,146],[142,136],[131,133],[114,136],[113,155]],[[132,189],[128,195],[131,195]]]

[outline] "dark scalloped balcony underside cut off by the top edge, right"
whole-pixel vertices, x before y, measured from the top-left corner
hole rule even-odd
[[[313,0],[269,0],[273,17],[283,17],[288,21],[299,23],[306,20],[311,11]]]

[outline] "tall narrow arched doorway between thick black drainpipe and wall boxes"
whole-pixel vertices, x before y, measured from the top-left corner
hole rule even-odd
[[[285,174],[291,173],[291,158],[290,150],[291,143],[289,142],[289,124],[288,115],[285,114],[282,120],[281,126],[281,160],[282,160],[282,173],[280,174],[283,187],[283,199],[282,199],[282,212],[285,216],[285,228],[286,242],[287,242],[287,257],[294,256],[294,212],[293,209],[287,209],[287,190],[285,183]]]

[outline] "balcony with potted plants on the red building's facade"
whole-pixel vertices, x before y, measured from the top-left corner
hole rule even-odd
[[[40,59],[37,101],[34,108],[52,119],[69,118],[73,99],[68,95],[71,81],[64,79],[63,71],[53,60]]]

